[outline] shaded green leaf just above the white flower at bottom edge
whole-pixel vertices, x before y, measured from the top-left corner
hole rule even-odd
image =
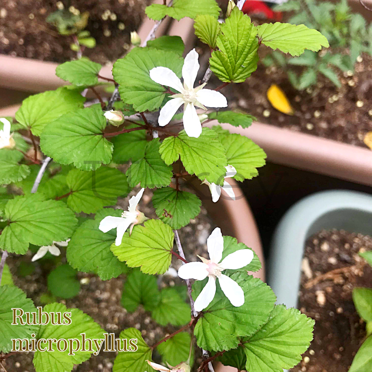
[[[171,366],[177,366],[185,362],[189,357],[191,336],[187,332],[175,334],[173,337],[157,346],[163,362]],[[193,361],[193,352],[191,353],[190,362]],[[192,365],[192,362],[190,363]]]

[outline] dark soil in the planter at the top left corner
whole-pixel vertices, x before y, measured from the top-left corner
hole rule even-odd
[[[84,55],[95,62],[115,61],[129,48],[130,32],[137,30],[145,7],[151,0],[63,0],[81,13],[89,11],[87,30],[96,39],[93,49],[86,48]],[[72,36],[58,35],[46,22],[49,14],[57,10],[57,1],[3,0],[0,9],[0,53],[35,58],[44,61],[64,62],[76,58],[70,49]],[[114,14],[102,19],[105,11]],[[105,17],[104,17],[105,18]],[[122,30],[121,23],[125,29]]]

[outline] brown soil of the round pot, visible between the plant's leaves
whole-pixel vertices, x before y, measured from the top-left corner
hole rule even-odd
[[[121,208],[128,208],[128,200],[135,195],[139,189],[134,189],[125,199],[118,202]],[[142,196],[139,209],[149,218],[157,218],[151,202],[152,192],[146,189]],[[207,212],[202,208],[201,213],[189,225],[179,230],[180,241],[185,251],[187,260],[197,260],[196,254],[208,257],[206,240],[215,227]],[[176,250],[176,247],[174,247]],[[28,251],[25,256],[11,254],[7,258],[7,264],[13,274],[14,284],[26,292],[27,297],[31,298],[35,306],[44,306],[40,297],[48,292],[47,276],[50,270],[55,268],[55,261],[46,260],[36,261],[35,271],[28,276],[19,275],[19,266],[23,263],[30,263],[33,254]],[[62,251],[62,263],[66,263],[65,250]],[[48,264],[52,264],[49,266]],[[171,267],[178,269],[181,265],[180,260],[173,257]],[[48,267],[49,266],[49,267]],[[180,327],[168,325],[162,327],[152,318],[150,312],[146,312],[142,305],[138,309],[129,313],[121,305],[123,283],[125,274],[110,280],[100,280],[98,276],[89,273],[78,273],[78,279],[87,280],[88,283],[81,284],[81,290],[77,296],[59,302],[65,304],[67,308],[79,308],[90,315],[108,333],[115,333],[119,337],[122,330],[135,327],[142,332],[144,340],[153,345],[155,342],[164,338],[167,334],[173,333]],[[83,282],[84,282],[83,280]],[[186,285],[180,278],[164,275],[159,281],[160,288],[174,285]],[[202,362],[201,352],[196,352],[196,363],[194,368]],[[23,352],[12,355],[4,360],[3,364],[7,372],[34,372],[32,364],[33,352]],[[200,354],[200,355],[199,355]],[[110,372],[115,360],[115,352],[100,352],[97,356],[92,356],[86,362],[75,366],[74,371],[78,372]],[[155,352],[154,361],[160,362],[160,356]],[[199,362],[199,364],[198,364]],[[0,369],[1,371],[1,369]]]

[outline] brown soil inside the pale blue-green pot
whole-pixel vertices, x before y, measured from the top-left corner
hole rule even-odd
[[[349,370],[366,336],[352,290],[372,286],[372,268],[358,252],[371,249],[370,236],[343,230],[323,230],[308,239],[298,308],[315,320],[314,340],[292,372]]]

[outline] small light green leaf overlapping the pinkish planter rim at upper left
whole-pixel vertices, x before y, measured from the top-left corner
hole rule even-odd
[[[62,80],[70,81],[76,86],[91,86],[98,84],[98,73],[102,66],[90,61],[88,58],[80,58],[76,61],[64,62],[55,69],[55,74]]]

